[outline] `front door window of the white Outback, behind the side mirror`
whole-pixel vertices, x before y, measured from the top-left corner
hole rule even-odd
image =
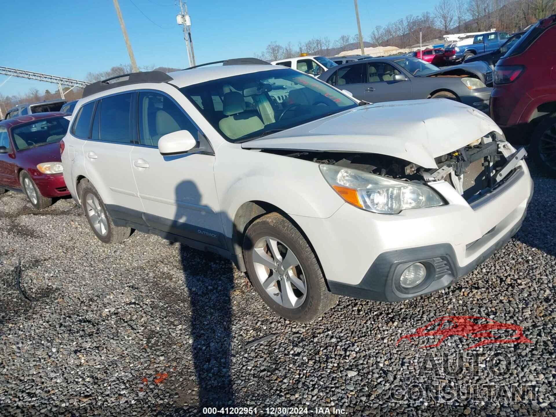
[[[155,92],[139,93],[139,142],[158,146],[163,135],[187,130],[197,137],[197,128],[169,97]]]

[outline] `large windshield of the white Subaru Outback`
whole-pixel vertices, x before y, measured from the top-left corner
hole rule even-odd
[[[227,141],[244,142],[357,107],[326,83],[272,69],[180,88]]]

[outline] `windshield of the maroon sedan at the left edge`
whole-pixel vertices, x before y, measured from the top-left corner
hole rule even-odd
[[[59,142],[68,130],[69,121],[63,117],[38,120],[12,129],[13,143],[16,149],[31,148],[47,143]]]

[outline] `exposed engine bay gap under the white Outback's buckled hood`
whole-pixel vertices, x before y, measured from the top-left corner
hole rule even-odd
[[[438,168],[428,169],[401,158],[376,153],[351,152],[293,152],[263,150],[316,163],[335,165],[370,172],[395,180],[449,182],[466,201],[478,200],[506,181],[527,152],[520,148],[511,155],[508,143],[497,140],[496,133],[489,133],[469,145],[435,158]]]

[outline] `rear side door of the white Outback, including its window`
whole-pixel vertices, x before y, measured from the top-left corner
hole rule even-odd
[[[96,103],[91,133],[83,145],[83,160],[87,178],[100,193],[111,214],[120,219],[140,215],[141,200],[131,171],[130,153],[133,149],[133,123],[137,114],[132,92],[103,97]],[[85,112],[83,106],[83,112]],[[92,109],[87,109],[90,111]],[[82,111],[80,111],[82,112]],[[80,118],[77,115],[77,126]]]

